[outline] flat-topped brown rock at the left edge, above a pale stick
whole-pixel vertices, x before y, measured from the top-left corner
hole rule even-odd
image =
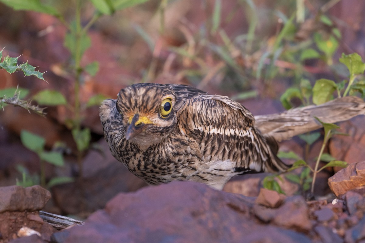
[[[39,185],[0,187],[0,195],[0,213],[41,210],[51,198],[51,193]]]

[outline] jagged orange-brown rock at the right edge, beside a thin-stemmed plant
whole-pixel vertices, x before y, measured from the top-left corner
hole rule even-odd
[[[328,185],[338,197],[350,190],[361,190],[365,185],[365,161],[350,164],[328,179]]]

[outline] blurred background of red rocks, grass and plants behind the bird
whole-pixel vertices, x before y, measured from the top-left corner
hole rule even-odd
[[[182,83],[269,114],[310,103],[289,92],[283,105],[287,90],[347,78],[342,53],[365,56],[365,1],[2,2],[3,56],[36,66],[47,82],[0,70],[0,97],[19,86],[19,98],[47,114],[0,111],[0,186],[40,183],[53,195],[45,211],[58,214],[85,217],[145,186],[111,156],[101,130],[98,105],[123,87]],[[304,156],[304,146],[281,147]]]

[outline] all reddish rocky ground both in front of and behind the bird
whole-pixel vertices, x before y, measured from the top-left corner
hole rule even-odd
[[[201,25],[205,13],[194,7],[195,1],[176,2],[183,3],[173,6],[176,19],[189,19],[191,26]],[[275,1],[256,2],[264,5],[266,2],[265,6],[270,8],[274,7]],[[223,9],[226,9],[223,14],[228,13],[232,3],[222,1]],[[334,60],[342,52],[357,52],[365,56],[363,9],[365,1],[358,0],[340,1],[330,9],[330,15],[340,20],[338,27],[342,33]],[[143,8],[125,11],[116,14],[118,21],[101,19],[91,29],[92,46],[85,52],[82,65],[98,60],[100,70],[95,77],[84,77],[85,83],[80,92],[83,103],[94,94],[115,98],[119,89],[140,81],[141,70],[147,70],[153,55],[158,55],[158,70],[162,70],[156,73],[155,82],[192,84],[186,79],[179,79],[178,75],[181,70],[191,68],[189,62],[184,66],[185,62],[181,64],[176,59],[170,69],[164,66],[170,53],[169,45],[178,43],[178,46],[186,42],[185,36],[180,32],[159,36],[154,41],[162,43],[162,51],[152,54],[145,40],[138,37],[131,25],[121,21],[133,20],[152,34],[158,34],[158,21],[150,21],[151,15],[143,18],[146,14]],[[246,22],[245,16],[239,15],[232,24],[227,24],[227,35],[248,26]],[[180,25],[180,21],[170,21],[166,28],[174,30]],[[52,29],[50,33],[39,36],[49,27]],[[275,31],[276,27],[277,23],[274,23],[271,29]],[[264,30],[263,26],[260,28],[258,31]],[[30,89],[30,95],[43,89],[55,89],[72,102],[73,80],[63,69],[69,62],[69,54],[63,47],[65,32],[65,28],[53,17],[35,12],[14,12],[1,5],[0,48],[6,47],[11,56],[21,55],[20,62],[28,60],[33,66],[39,66],[40,71],[47,71],[45,77],[49,83],[24,78],[21,73],[10,75],[0,71],[0,89],[19,85]],[[118,33],[122,33],[121,36]],[[212,56],[207,57],[204,62],[208,63],[209,69],[216,63],[210,59]],[[316,72],[308,74],[313,80],[333,73],[325,65],[315,68]],[[283,81],[281,77],[273,80],[271,92],[262,91],[265,88],[263,83],[252,81],[250,88],[260,91],[261,97],[246,99],[242,101],[243,105],[254,115],[283,111],[278,97],[290,82]],[[199,85],[211,94],[232,96],[242,91],[237,91],[234,85],[232,89],[223,89],[214,78]],[[267,174],[235,177],[224,191],[184,182],[146,187],[109,153],[102,138],[96,106],[82,114],[85,117],[82,126],[91,129],[92,142],[104,153],[88,151],[85,154],[81,180],[54,186],[49,191],[39,186],[14,186],[16,179],[22,176],[16,170],[17,165],[25,166],[31,174],[39,173],[39,158],[20,142],[22,129],[45,137],[47,150],[56,141],[68,146],[64,153],[64,167],[46,165],[47,180],[54,176],[77,178],[76,144],[65,125],[70,115],[68,112],[65,106],[49,107],[46,118],[43,118],[19,107],[7,106],[4,111],[0,110],[0,243],[242,242],[242,239],[246,242],[365,242],[365,171],[364,162],[359,162],[365,157],[364,116],[339,124],[339,132],[349,136],[333,136],[326,152],[338,160],[347,161],[350,166],[343,170],[323,170],[316,182],[316,200],[312,201],[303,197],[306,195],[301,193],[298,184],[285,179],[279,181],[285,196],[262,189],[262,180]],[[319,139],[306,153],[305,143],[293,138],[281,142],[280,150],[294,151],[303,158],[307,154],[306,160],[313,161],[318,156],[321,143]],[[295,173],[300,173],[300,170]],[[81,218],[85,225],[60,230],[47,223],[39,210]],[[22,227],[28,229],[19,232]]]

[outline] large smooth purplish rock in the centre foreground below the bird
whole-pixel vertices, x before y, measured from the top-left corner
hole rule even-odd
[[[118,194],[84,226],[65,230],[61,242],[310,242],[257,222],[253,205],[253,198],[176,181]]]

